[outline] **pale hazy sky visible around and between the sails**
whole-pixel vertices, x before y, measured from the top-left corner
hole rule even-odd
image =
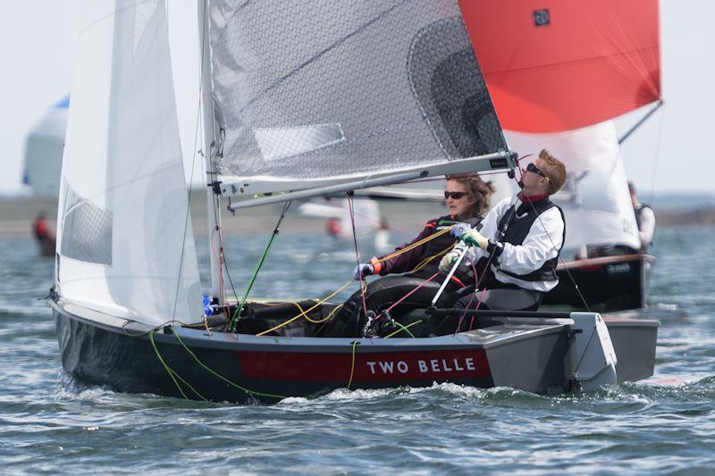
[[[176,46],[172,51],[176,90],[196,91],[198,79],[191,66],[197,54],[194,38],[198,34],[191,19],[196,4],[168,1],[171,42]],[[71,90],[81,4],[81,0],[22,0],[4,5],[0,16],[0,195],[22,193],[26,136],[47,108]],[[713,18],[712,0],[660,3],[666,104],[622,147],[629,179],[647,193],[715,193],[709,173],[710,139],[715,135],[711,119],[715,116]],[[191,97],[178,100],[180,129],[193,131],[196,96],[181,96]],[[627,129],[638,114],[642,112],[618,121],[619,129]],[[190,163],[193,133],[182,136],[185,160]]]

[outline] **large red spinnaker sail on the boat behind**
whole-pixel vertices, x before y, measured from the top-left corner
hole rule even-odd
[[[578,129],[660,99],[658,0],[458,3],[504,129]]]

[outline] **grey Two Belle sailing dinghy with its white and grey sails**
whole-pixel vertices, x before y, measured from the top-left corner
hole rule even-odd
[[[432,336],[430,324],[455,311],[417,308],[392,313],[371,337],[316,338],[338,306],[327,298],[261,303],[248,298],[249,283],[243,297],[226,296],[227,203],[240,215],[509,171],[515,154],[454,1],[212,0],[198,2],[198,21],[213,249],[206,306],[164,2],[86,4],[51,296],[66,372],[124,392],[231,402],[435,381],[546,394],[652,374],[654,321],[475,311],[468,328]]]

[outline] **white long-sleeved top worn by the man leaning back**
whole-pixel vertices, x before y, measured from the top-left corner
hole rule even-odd
[[[508,196],[493,206],[492,210],[486,214],[482,221],[483,228],[480,231],[484,238],[492,239],[492,241],[499,240],[499,222],[511,205],[518,208],[521,205],[521,201],[516,196]],[[519,220],[518,215],[515,220]],[[564,226],[564,221],[557,207],[553,206],[540,214],[532,223],[521,245],[503,243],[504,250],[501,255],[492,259],[491,269],[494,277],[503,283],[515,284],[520,288],[534,289],[536,291],[546,292],[555,288],[559,284],[558,279],[549,281],[519,280],[501,270],[524,275],[540,269],[543,263],[559,254],[559,250],[563,245]],[[459,249],[464,246],[466,246],[464,242],[459,242],[455,247]],[[472,246],[467,250],[465,258],[476,263],[479,258],[488,256],[487,251],[477,246]]]

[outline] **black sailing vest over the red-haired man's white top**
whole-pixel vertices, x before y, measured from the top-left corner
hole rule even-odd
[[[564,231],[563,236],[561,237],[561,246],[559,246],[559,251],[557,252],[556,256],[546,261],[546,263],[543,263],[542,267],[538,270],[529,272],[527,274],[517,274],[515,272],[505,271],[499,268],[499,265],[497,265],[499,271],[511,276],[512,278],[517,278],[517,280],[555,281],[559,279],[556,276],[556,265],[559,263],[559,255],[561,253],[561,248],[566,242],[566,220],[564,220],[563,210],[561,210],[559,205],[556,205],[551,202],[548,197],[543,198],[538,202],[534,202],[533,204],[521,204],[517,208],[516,213],[514,213],[514,205],[510,206],[499,221],[499,230],[503,230],[503,227],[509,221],[509,228],[507,228],[507,232],[504,234],[504,237],[500,239],[500,241],[501,243],[510,243],[512,245],[523,244],[524,240],[526,239],[526,235],[529,234],[529,230],[531,230],[531,226],[534,224],[534,221],[536,221],[537,217],[552,207],[556,207],[559,209],[559,213],[561,213],[561,221],[564,222]]]

